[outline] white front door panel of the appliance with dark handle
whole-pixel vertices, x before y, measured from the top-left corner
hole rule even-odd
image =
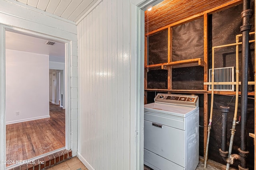
[[[185,167],[185,131],[144,120],[144,149]]]

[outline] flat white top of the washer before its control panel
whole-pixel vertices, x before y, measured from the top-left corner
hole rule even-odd
[[[187,117],[188,115],[194,113],[194,111],[196,110],[199,110],[199,107],[194,108],[161,103],[150,103],[144,105],[144,111],[154,111],[157,113],[163,113],[179,117]]]

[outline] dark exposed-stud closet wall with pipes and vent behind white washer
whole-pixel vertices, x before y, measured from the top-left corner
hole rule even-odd
[[[254,0],[226,6],[226,1],[213,3],[216,6],[211,9],[201,9],[202,16],[187,16],[192,19],[172,16],[172,22],[166,16],[170,23],[162,27],[150,24],[153,16],[160,16],[162,4],[153,7],[152,13],[145,12],[144,103],[153,103],[158,93],[198,96],[200,161],[205,167],[213,160],[222,168],[252,170],[254,138],[249,133],[254,134],[255,124]],[[193,14],[199,14],[196,6],[193,8]],[[232,79],[216,78],[222,75],[222,68],[231,70],[228,75]],[[223,72],[226,75],[228,71]]]

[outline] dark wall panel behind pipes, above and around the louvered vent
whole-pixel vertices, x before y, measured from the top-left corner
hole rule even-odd
[[[254,1],[251,1],[251,9],[254,9]],[[236,43],[236,35],[241,34],[240,26],[242,4],[216,12],[209,15],[209,68],[212,68],[212,47],[219,45],[226,45]],[[254,31],[254,10],[252,10],[252,17],[250,18],[252,29]],[[254,35],[250,35],[250,39],[254,39]],[[240,42],[242,38],[240,37]],[[242,45],[239,45],[239,77],[241,81],[241,65],[242,64]],[[214,67],[229,67],[235,66],[236,70],[236,46],[222,47],[214,50]],[[254,81],[254,43],[250,43],[250,53],[248,58],[248,81]],[[236,80],[235,80],[236,81]],[[241,90],[241,89],[240,89]],[[248,86],[248,91],[254,91],[253,86]]]

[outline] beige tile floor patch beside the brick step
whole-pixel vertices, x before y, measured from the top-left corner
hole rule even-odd
[[[47,170],[77,170],[79,168],[81,168],[81,170],[88,170],[78,157],[74,157]]]

